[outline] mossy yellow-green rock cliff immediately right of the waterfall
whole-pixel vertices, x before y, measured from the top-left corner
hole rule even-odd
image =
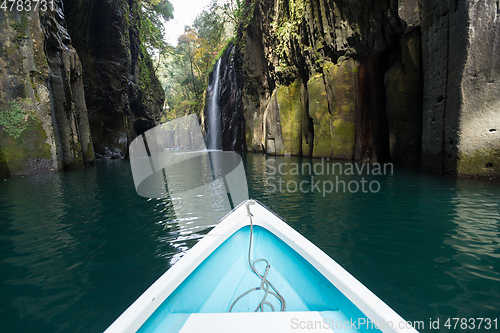
[[[247,146],[273,154],[388,160],[381,87],[404,30],[396,4],[258,2],[251,24],[240,30],[237,52],[245,119],[252,124]]]

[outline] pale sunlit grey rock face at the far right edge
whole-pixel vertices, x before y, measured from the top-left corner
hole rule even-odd
[[[469,43],[464,75],[459,81],[463,105],[458,135],[453,136],[456,147],[450,153],[458,153],[459,174],[500,176],[500,3],[471,2],[468,12]],[[460,23],[459,16],[455,24]],[[453,61],[457,60],[462,58]]]

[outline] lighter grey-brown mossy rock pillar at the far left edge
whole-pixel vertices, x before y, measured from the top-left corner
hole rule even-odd
[[[55,1],[54,12],[0,11],[1,176],[93,162],[78,56],[59,6]]]

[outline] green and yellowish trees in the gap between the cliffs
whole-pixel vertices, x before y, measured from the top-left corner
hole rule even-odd
[[[155,73],[165,90],[163,121],[190,113],[201,114],[213,66],[227,46],[235,41],[237,28],[250,23],[256,4],[256,0],[231,0],[221,6],[213,0],[191,26],[185,27],[178,45],[172,46],[163,39],[165,31],[158,15],[171,18],[170,2],[140,0],[141,42],[143,51],[147,51],[143,53],[154,58]],[[147,85],[149,72],[146,68],[143,70],[144,80],[141,81]]]

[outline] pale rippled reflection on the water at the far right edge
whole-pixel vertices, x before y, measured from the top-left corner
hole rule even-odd
[[[442,317],[494,317],[500,309],[500,207],[498,197],[487,190],[482,183],[464,180],[457,182],[451,198],[455,225],[444,244],[453,252],[435,261],[447,265],[445,273],[454,280],[442,287],[456,291],[449,301],[432,304]]]

